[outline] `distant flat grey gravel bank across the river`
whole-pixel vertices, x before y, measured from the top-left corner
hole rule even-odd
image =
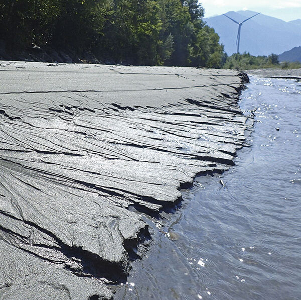
[[[256,69],[246,70],[245,72],[260,77],[301,80],[301,69]]]

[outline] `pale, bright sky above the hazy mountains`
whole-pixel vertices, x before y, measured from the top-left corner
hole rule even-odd
[[[229,11],[254,11],[284,21],[301,19],[301,0],[200,0],[205,17]]]

